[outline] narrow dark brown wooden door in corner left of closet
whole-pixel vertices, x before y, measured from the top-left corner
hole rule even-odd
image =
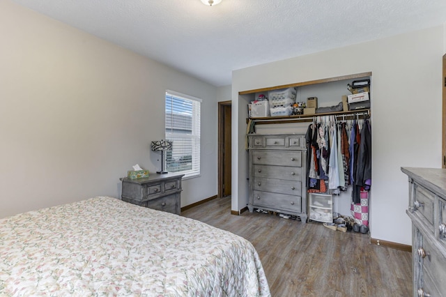
[[[218,102],[218,196],[231,195],[231,101]]]

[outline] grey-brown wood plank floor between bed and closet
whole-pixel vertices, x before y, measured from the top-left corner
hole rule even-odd
[[[412,294],[410,252],[371,245],[367,234],[333,231],[320,222],[304,224],[264,213],[231,215],[228,197],[181,215],[250,241],[273,297]]]

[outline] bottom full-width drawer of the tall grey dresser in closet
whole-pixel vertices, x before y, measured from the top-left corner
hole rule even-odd
[[[254,191],[254,206],[270,208],[272,210],[302,212],[302,199],[298,196]]]

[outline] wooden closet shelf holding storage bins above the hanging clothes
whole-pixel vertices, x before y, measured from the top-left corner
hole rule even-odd
[[[321,114],[295,114],[293,116],[267,116],[262,118],[248,118],[249,121],[256,124],[270,124],[270,123],[298,123],[298,122],[311,122],[316,116],[337,116],[351,118],[357,116],[357,119],[364,119],[370,116],[370,109],[357,109],[349,110],[348,112],[324,112]]]

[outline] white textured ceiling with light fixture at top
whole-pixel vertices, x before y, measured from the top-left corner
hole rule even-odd
[[[215,86],[231,71],[446,23],[445,0],[13,0]]]

